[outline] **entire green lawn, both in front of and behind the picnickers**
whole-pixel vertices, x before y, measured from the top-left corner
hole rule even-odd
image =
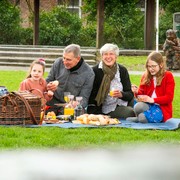
[[[145,57],[120,57],[128,70],[143,70]],[[123,63],[122,63],[123,62]],[[134,63],[133,63],[134,62]],[[45,76],[47,73],[45,74]],[[25,78],[24,71],[0,71],[0,85],[9,91],[18,90]],[[132,83],[139,85],[140,75],[130,75]],[[174,117],[180,118],[180,77],[175,77],[176,88],[173,102]],[[22,128],[0,126],[0,149],[60,148],[83,149],[91,147],[117,147],[126,144],[180,144],[180,130],[133,130],[125,128],[56,127]]]

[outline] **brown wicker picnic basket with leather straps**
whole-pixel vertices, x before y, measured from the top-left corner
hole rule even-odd
[[[1,125],[39,124],[41,98],[28,91],[13,91],[0,97]]]

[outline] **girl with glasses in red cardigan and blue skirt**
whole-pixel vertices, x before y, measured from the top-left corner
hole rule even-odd
[[[174,77],[170,71],[166,71],[161,53],[150,53],[139,88],[132,86],[132,91],[138,100],[134,105],[137,117],[129,117],[126,120],[158,123],[172,118],[174,88]]]

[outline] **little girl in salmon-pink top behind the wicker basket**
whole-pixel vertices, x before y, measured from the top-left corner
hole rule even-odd
[[[25,80],[20,83],[19,91],[28,90],[33,94],[40,96],[43,99],[43,104],[46,101],[52,99],[54,92],[47,90],[46,80],[43,78],[45,72],[45,60],[40,58],[32,62],[29,74]],[[51,83],[59,84],[58,81],[53,81]]]

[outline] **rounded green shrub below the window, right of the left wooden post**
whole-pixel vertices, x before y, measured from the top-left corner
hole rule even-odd
[[[39,42],[42,45],[76,43],[82,26],[79,17],[62,6],[55,7],[51,12],[42,12],[40,22]]]

